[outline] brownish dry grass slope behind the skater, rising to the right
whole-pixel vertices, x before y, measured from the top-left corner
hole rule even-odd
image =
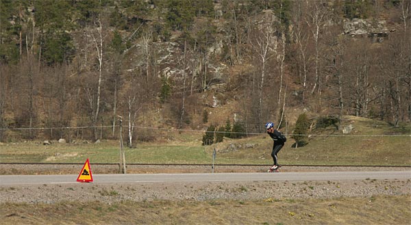
[[[354,127],[349,135],[343,135],[334,127],[314,129],[310,132],[312,136],[308,138],[308,145],[302,148],[292,148],[294,140],[288,135],[288,141],[278,154],[279,163],[284,165],[411,165],[410,127],[395,128],[378,120],[345,116],[342,125],[349,124]],[[285,129],[282,129],[282,132],[285,133]],[[253,147],[247,147],[250,145]],[[242,140],[227,139],[213,147],[219,150],[218,159],[223,163],[241,163],[244,159],[247,159],[248,163],[271,163],[272,146],[271,138],[262,134]]]

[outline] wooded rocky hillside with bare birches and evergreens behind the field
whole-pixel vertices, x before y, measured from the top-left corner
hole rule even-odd
[[[406,0],[0,0],[0,142],[411,120]],[[68,129],[71,128],[71,129]],[[148,128],[144,132],[139,128]],[[228,129],[227,129],[228,128]]]

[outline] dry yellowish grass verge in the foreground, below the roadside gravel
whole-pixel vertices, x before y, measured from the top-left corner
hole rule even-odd
[[[1,224],[410,224],[411,196],[1,206]]]

